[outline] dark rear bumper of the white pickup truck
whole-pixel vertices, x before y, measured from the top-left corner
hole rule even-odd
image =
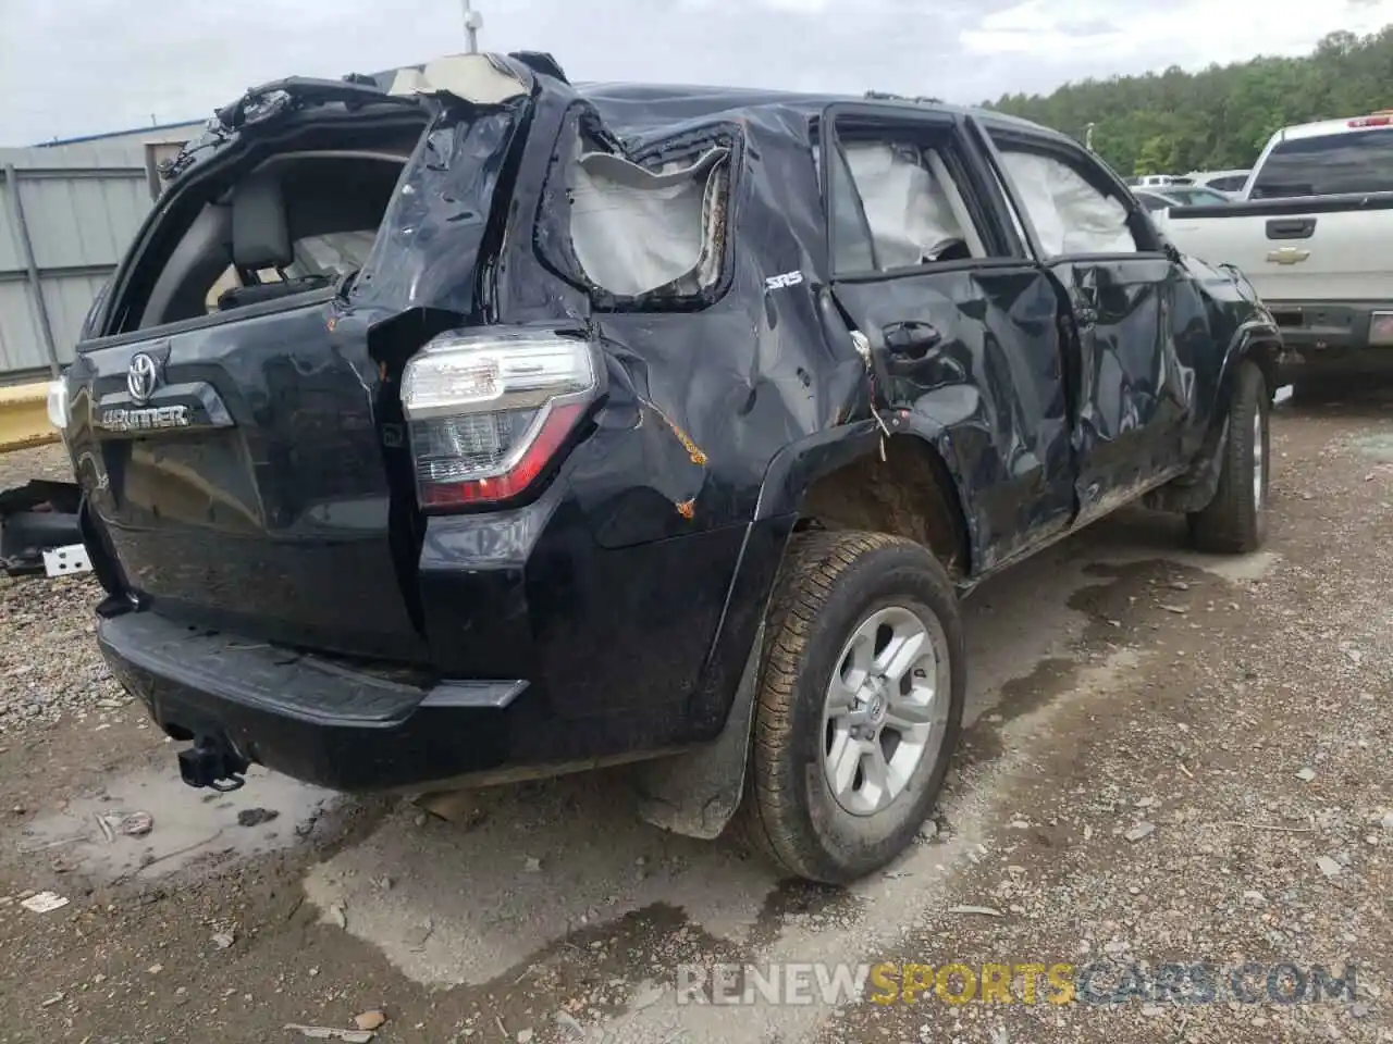
[[[1315,373],[1393,373],[1393,344],[1371,344],[1373,317],[1390,301],[1268,301],[1287,349],[1283,377]]]

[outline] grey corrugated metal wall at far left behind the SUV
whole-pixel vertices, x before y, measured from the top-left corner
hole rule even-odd
[[[185,135],[187,136],[187,135]],[[0,149],[0,383],[53,372],[150,209],[169,131]]]

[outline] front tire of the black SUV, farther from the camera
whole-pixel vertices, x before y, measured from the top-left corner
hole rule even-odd
[[[1190,539],[1201,551],[1247,554],[1266,539],[1270,405],[1262,370],[1251,362],[1240,365],[1229,400],[1229,438],[1220,450],[1219,486],[1209,504],[1187,519]],[[1255,475],[1258,482],[1254,482]]]

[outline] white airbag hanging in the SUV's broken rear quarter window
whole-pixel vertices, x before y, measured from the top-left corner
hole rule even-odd
[[[729,149],[652,171],[607,152],[575,160],[571,245],[585,276],[618,296],[709,285],[724,241]]]

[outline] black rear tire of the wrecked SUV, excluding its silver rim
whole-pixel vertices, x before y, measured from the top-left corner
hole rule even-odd
[[[933,699],[947,697],[943,739],[936,754],[925,749],[887,807],[854,814],[839,803],[822,770],[827,688],[857,628],[880,610],[901,608],[926,625],[931,640],[942,639],[946,656],[937,661]],[[745,835],[780,867],[811,881],[848,884],[879,870],[914,841],[933,809],[957,746],[965,692],[957,594],[926,548],[885,533],[795,536],[766,622]]]

